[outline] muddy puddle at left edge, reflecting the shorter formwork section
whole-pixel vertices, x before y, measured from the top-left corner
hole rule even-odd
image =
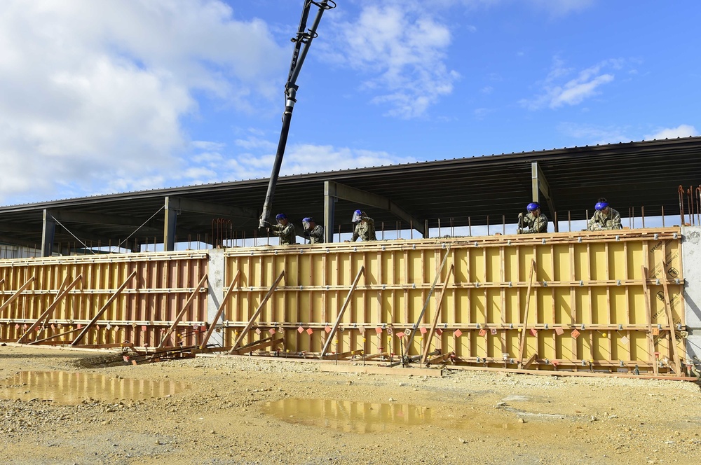
[[[173,381],[135,380],[95,373],[20,371],[0,382],[0,398],[29,401],[39,398],[75,405],[88,398],[101,401],[139,401],[178,394],[189,384]]]

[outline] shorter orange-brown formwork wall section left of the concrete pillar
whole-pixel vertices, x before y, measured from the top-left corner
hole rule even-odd
[[[130,278],[132,272],[135,275]],[[114,297],[81,345],[129,341],[154,347],[206,272],[205,251],[0,261],[0,339],[19,340],[48,310],[46,320],[27,334],[25,342],[47,338],[47,342],[70,342]],[[75,286],[57,300],[73,282]],[[206,286],[193,296],[183,321],[191,327],[206,324]],[[66,334],[57,336],[62,333]],[[184,335],[185,342],[199,335],[194,329],[178,334]],[[177,334],[172,337],[171,345]]]

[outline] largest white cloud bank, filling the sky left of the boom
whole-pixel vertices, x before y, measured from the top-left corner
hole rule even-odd
[[[273,106],[289,55],[219,0],[6,0],[0,50],[0,201],[163,187],[177,155],[217,151],[187,141],[193,92]]]

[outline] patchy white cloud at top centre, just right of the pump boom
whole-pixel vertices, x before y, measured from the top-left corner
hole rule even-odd
[[[459,78],[445,64],[448,27],[421,2],[363,4],[358,18],[336,22],[334,31],[339,37],[329,42],[339,48],[327,59],[369,76],[363,90],[390,116],[422,116]]]

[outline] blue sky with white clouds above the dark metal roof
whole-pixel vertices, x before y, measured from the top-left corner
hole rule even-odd
[[[269,176],[302,3],[2,2],[0,204]],[[338,0],[281,174],[699,135],[700,19],[690,0]]]

